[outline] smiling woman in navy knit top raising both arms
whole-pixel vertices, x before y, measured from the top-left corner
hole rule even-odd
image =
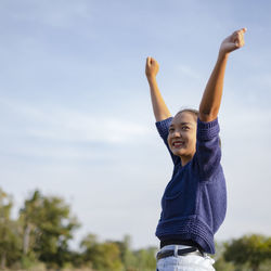
[[[207,254],[215,254],[214,235],[227,210],[217,116],[229,54],[244,46],[245,31],[234,31],[221,43],[198,113],[184,109],[171,117],[156,82],[158,63],[146,60],[156,127],[173,162],[156,228],[160,241],[158,271],[215,270],[215,261]]]

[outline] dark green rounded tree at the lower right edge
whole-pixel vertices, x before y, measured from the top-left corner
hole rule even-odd
[[[235,264],[247,263],[258,271],[262,262],[271,259],[271,238],[263,235],[245,235],[227,245],[224,259]]]

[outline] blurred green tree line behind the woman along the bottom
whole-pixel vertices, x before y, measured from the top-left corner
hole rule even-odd
[[[78,250],[69,242],[79,221],[59,196],[34,191],[11,218],[13,198],[0,189],[0,268],[12,270],[85,269],[101,271],[153,271],[157,247],[131,248],[131,237],[100,242],[89,233]],[[271,237],[250,234],[217,244],[218,271],[271,271]],[[36,269],[37,270],[37,269]]]

